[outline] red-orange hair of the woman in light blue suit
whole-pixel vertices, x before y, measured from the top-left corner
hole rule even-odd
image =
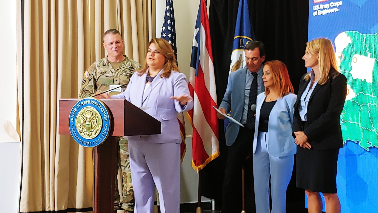
[[[278,96],[283,97],[287,94],[294,93],[293,85],[291,84],[289,72],[286,65],[282,61],[274,60],[265,62],[264,67],[270,67],[270,73],[273,75],[274,86],[278,89]],[[265,95],[270,92],[268,87],[265,87]]]

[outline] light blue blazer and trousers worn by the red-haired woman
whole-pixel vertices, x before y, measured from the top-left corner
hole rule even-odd
[[[265,93],[257,96],[256,126],[253,139],[253,177],[257,213],[284,213],[286,189],[291,179],[296,144],[292,136],[296,95],[278,98],[268,120],[268,132],[259,131],[260,110]],[[271,188],[269,188],[269,177]],[[272,197],[272,211],[269,197]]]

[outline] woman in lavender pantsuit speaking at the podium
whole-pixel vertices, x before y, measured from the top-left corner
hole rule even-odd
[[[146,66],[130,78],[124,98],[161,122],[160,135],[128,136],[135,210],[153,213],[155,186],[162,213],[180,212],[180,127],[177,113],[193,108],[188,84],[171,45],[151,39]],[[105,95],[109,97],[109,95]]]

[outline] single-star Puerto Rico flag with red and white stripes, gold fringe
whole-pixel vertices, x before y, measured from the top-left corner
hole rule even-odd
[[[218,118],[214,65],[206,1],[201,0],[194,30],[189,91],[194,108],[189,111],[193,126],[192,167],[200,171],[219,155]]]

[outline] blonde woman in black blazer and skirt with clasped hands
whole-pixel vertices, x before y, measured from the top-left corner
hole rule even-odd
[[[340,115],[347,95],[347,79],[339,72],[328,39],[307,42],[303,56],[312,70],[302,76],[294,104],[293,136],[297,146],[296,186],[304,188],[308,212],[340,212],[336,191],[339,149],[343,145]]]

